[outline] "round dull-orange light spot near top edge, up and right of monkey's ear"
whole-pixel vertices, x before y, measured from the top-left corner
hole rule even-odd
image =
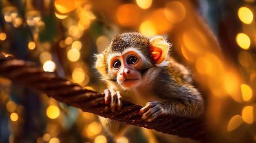
[[[184,20],[186,10],[181,2],[170,2],[166,5],[164,14],[170,22],[177,23]]]

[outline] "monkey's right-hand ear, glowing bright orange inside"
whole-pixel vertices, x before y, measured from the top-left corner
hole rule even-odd
[[[169,44],[164,41],[162,37],[153,37],[150,40],[151,55],[153,56],[155,63],[162,63],[168,54]]]

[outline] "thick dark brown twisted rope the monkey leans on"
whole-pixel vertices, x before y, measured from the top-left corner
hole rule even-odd
[[[48,97],[53,97],[68,106],[80,108],[84,112],[91,112],[121,123],[154,129],[167,134],[189,137],[202,142],[209,141],[203,119],[164,116],[155,121],[146,122],[138,114],[141,106],[124,100],[121,110],[111,112],[110,106],[104,103],[103,94],[85,89],[65,78],[58,77],[55,73],[44,72],[33,62],[4,57],[0,53],[0,76],[32,90],[44,92]]]

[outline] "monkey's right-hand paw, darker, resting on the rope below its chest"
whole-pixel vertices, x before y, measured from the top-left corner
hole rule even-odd
[[[162,114],[162,111],[162,107],[158,101],[150,101],[146,103],[146,106],[139,110],[139,114],[142,115],[142,119],[150,122]]]

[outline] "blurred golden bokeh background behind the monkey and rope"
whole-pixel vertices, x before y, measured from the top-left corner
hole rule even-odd
[[[0,0],[0,10],[1,53],[98,92],[94,54],[114,35],[166,37],[204,96],[211,141],[256,142],[255,0]],[[144,143],[137,135],[117,143]],[[0,77],[0,143],[112,142],[97,115]]]

